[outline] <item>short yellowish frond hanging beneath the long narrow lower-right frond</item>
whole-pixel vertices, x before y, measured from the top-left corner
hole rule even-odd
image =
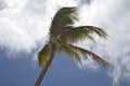
[[[65,52],[77,63],[82,66],[81,58],[80,58],[79,54],[74,48],[69,47],[68,45],[61,45],[61,51]]]

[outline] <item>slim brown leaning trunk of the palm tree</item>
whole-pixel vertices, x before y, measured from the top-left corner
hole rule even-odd
[[[40,75],[39,75],[35,86],[40,86],[40,84],[41,84],[41,82],[42,82],[42,80],[43,80],[43,77],[44,77],[44,75],[46,75],[46,73],[47,73],[47,71],[48,71],[48,69],[49,69],[53,58],[54,58],[54,49],[55,49],[55,46],[51,45],[51,56],[50,56],[50,59],[46,63],[46,66],[43,67],[43,69],[42,69],[42,71],[41,71],[41,73],[40,73]]]

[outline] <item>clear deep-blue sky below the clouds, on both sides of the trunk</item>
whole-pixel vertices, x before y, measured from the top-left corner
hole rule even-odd
[[[2,54],[1,54],[2,55]],[[3,55],[4,57],[4,55]],[[0,85],[34,86],[41,69],[29,59],[0,58]],[[106,70],[80,70],[66,55],[60,55],[53,60],[51,70],[47,73],[42,85],[46,86],[109,86],[112,81]]]

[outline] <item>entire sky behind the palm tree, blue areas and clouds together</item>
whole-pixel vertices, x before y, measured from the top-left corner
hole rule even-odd
[[[75,26],[103,28],[107,40],[76,45],[96,53],[112,68],[91,59],[78,67],[65,54],[55,57],[42,82],[44,86],[129,86],[130,10],[129,0],[0,0],[0,86],[34,86],[41,68],[37,53],[47,43],[54,14],[63,6],[79,6]]]

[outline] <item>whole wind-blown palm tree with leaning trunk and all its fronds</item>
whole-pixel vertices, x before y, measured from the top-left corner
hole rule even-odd
[[[84,48],[73,45],[78,41],[89,39],[94,41],[92,34],[96,33],[101,38],[106,38],[107,33],[94,26],[80,26],[74,27],[74,23],[77,18],[77,8],[63,8],[54,16],[52,25],[50,27],[50,41],[43,46],[38,54],[39,66],[42,67],[41,74],[39,75],[35,86],[39,86],[43,76],[46,75],[50,64],[54,58],[54,55],[65,52],[77,63],[82,66],[80,54],[91,56],[93,60],[104,66],[109,67],[109,63],[103,60],[96,54],[89,52]]]

